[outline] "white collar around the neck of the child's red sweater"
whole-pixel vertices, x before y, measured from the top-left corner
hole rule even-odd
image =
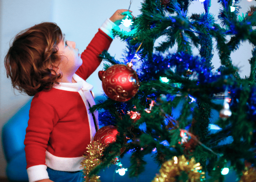
[[[80,89],[83,91],[91,91],[93,89],[93,86],[83,80],[80,76],[74,74],[73,79],[76,81],[76,83],[60,82],[60,84],[54,84],[53,88],[72,92],[78,92]]]

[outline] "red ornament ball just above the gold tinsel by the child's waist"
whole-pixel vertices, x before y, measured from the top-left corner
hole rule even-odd
[[[116,135],[118,135],[117,127],[116,126],[103,126],[101,127],[94,136],[94,141],[99,141],[104,143],[108,146],[110,143],[116,142]],[[127,142],[126,137],[124,136],[124,142]],[[121,155],[125,150],[125,147],[121,148],[120,154]]]

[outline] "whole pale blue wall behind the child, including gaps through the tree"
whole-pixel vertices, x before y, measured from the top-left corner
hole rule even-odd
[[[219,4],[217,0],[212,0],[210,8],[211,13],[217,13]],[[106,18],[112,16],[117,9],[127,9],[130,0],[1,0],[0,6],[0,128],[11,118],[19,108],[30,99],[29,96],[21,95],[15,92],[11,87],[10,79],[6,78],[4,68],[4,56],[8,51],[10,40],[19,31],[29,28],[34,24],[42,21],[56,22],[63,33],[66,34],[67,40],[76,42],[80,52],[88,45],[99,26]],[[133,15],[139,15],[141,7],[140,0],[133,0],[131,10]],[[255,1],[249,3],[241,0],[241,12],[246,12],[249,5],[256,5]],[[198,1],[193,1],[189,12],[204,12],[203,5]],[[215,16],[217,17],[217,15]],[[121,58],[125,43],[119,39],[113,41],[109,52],[117,59]],[[243,43],[240,50],[232,54],[234,63],[241,68],[241,76],[249,75],[248,59],[251,58],[252,46]],[[196,52],[195,52],[196,54]],[[215,68],[220,66],[218,54],[212,60]],[[95,94],[102,94],[101,82],[98,79],[98,70],[87,80],[94,85]],[[0,130],[1,131],[1,130]],[[2,148],[2,147],[1,147]],[[0,150],[0,177],[5,177],[6,162],[3,151]]]

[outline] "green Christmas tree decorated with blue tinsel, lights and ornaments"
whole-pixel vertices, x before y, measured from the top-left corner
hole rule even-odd
[[[128,21],[131,31],[113,30],[127,42],[126,56],[100,55],[108,62],[99,72],[107,99],[91,111],[98,110],[100,124],[108,126],[103,133],[116,133],[108,143],[94,138],[88,146],[86,181],[98,181],[99,170],[120,164],[117,156],[127,151],[130,177],[140,175],[143,156],[156,151],[161,169],[154,182],[221,182],[228,169],[241,182],[256,180],[256,7],[239,16],[238,0],[219,0],[217,24],[208,12],[210,0],[202,0],[204,13],[188,16],[191,1],[144,0],[141,14]],[[161,36],[165,41],[155,47]],[[213,39],[221,60],[216,72]],[[240,78],[230,54],[245,40],[253,45],[251,72]],[[174,44],[177,50],[170,52]],[[192,55],[193,47],[199,55]],[[209,131],[212,110],[219,112],[215,133]],[[228,137],[231,142],[223,143]]]

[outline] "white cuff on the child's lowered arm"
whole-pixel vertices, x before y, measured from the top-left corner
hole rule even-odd
[[[37,165],[27,168],[27,175],[29,176],[29,182],[38,181],[41,179],[49,179],[46,171],[46,165]]]

